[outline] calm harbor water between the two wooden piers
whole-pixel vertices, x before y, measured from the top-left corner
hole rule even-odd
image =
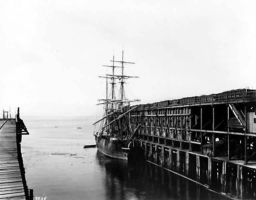
[[[29,188],[47,199],[220,199],[203,187],[146,161],[104,156],[90,119],[24,119],[22,137]],[[77,129],[81,127],[82,129]]]

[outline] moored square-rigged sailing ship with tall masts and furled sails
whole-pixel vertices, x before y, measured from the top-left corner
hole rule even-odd
[[[124,64],[135,64],[134,62],[125,62],[124,51],[122,51],[122,61],[110,60],[113,65],[103,65],[111,67],[112,74],[99,76],[106,79],[106,99],[98,99],[104,106],[104,114],[100,120],[95,122],[94,136],[98,150],[106,156],[125,159],[135,155],[135,135],[140,127],[132,132],[130,126],[130,112],[139,105],[130,108],[130,103],[140,101],[139,99],[130,100],[125,96],[124,84],[129,78],[138,78],[137,76],[127,76],[124,74]],[[115,66],[116,63],[121,66]],[[117,65],[117,64],[116,64]],[[121,74],[115,74],[115,68],[119,68]],[[108,92],[108,84],[110,91]],[[118,87],[119,86],[119,87]],[[116,96],[116,90],[118,94]],[[96,124],[99,125],[96,131]]]

